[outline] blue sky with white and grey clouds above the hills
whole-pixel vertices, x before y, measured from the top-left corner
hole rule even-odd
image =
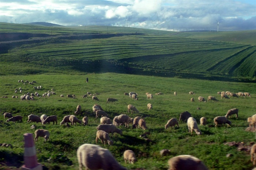
[[[256,29],[256,0],[0,0],[0,22],[252,30]]]

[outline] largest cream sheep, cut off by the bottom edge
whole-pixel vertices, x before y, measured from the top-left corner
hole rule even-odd
[[[82,166],[87,170],[127,170],[116,161],[108,149],[98,145],[85,143],[78,147],[76,154],[79,170],[82,170]]]

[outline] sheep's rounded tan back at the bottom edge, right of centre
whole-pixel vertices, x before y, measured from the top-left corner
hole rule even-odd
[[[191,155],[179,155],[168,160],[168,170],[208,170],[204,163]]]

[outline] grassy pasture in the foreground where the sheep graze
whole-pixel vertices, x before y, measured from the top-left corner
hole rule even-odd
[[[86,77],[89,83],[85,82]],[[36,81],[37,84],[22,84],[18,80]],[[100,104],[111,119],[116,115],[127,114],[134,118],[142,116],[147,123],[148,130],[132,129],[119,126],[123,135],[114,134],[113,146],[104,146],[109,149],[121,165],[128,169],[143,168],[147,170],[165,170],[168,168],[167,161],[176,155],[191,154],[204,161],[210,170],[248,170],[252,169],[249,153],[238,151],[235,146],[224,145],[225,142],[244,142],[245,146],[255,142],[255,134],[246,132],[248,127],[247,117],[255,114],[256,110],[256,85],[255,83],[219,82],[195,79],[162,78],[157,76],[140,76],[127,74],[38,74],[38,75],[8,75],[0,77],[0,143],[11,143],[14,146],[0,147],[0,169],[18,169],[23,164],[23,134],[33,133],[30,129],[35,124],[36,129],[47,129],[50,131],[50,141],[44,142],[39,138],[36,142],[38,162],[49,169],[78,169],[76,149],[83,143],[95,143],[96,127],[99,118],[95,118],[92,106]],[[42,86],[41,90],[34,90],[33,86]],[[21,87],[23,93],[39,92],[43,94],[54,88],[56,95],[49,98],[35,98],[34,101],[21,101],[20,98],[12,99],[15,88]],[[124,92],[137,92],[139,100],[132,100],[124,96]],[[177,92],[177,96],[173,92]],[[195,95],[189,95],[194,91]],[[220,99],[217,91],[250,92],[252,98],[230,98]],[[82,98],[86,92],[100,93],[97,95],[99,101],[93,101],[91,97]],[[162,92],[164,95],[154,95],[153,99],[147,99],[145,93],[153,95]],[[65,97],[61,98],[60,94]],[[67,94],[75,94],[77,99],[67,98]],[[207,98],[215,96],[218,102],[197,102],[198,96]],[[112,97],[118,99],[115,103],[106,103],[106,99]],[[195,102],[190,102],[190,98]],[[147,110],[147,103],[153,104],[153,110]],[[76,106],[82,106],[82,115],[89,117],[89,126],[60,126],[60,121],[65,115],[74,114]],[[127,105],[133,104],[140,111],[139,114],[127,112]],[[201,110],[197,110],[200,107]],[[239,117],[230,118],[231,127],[214,127],[215,116],[223,116],[231,108],[239,109]],[[202,135],[191,135],[188,133],[186,123],[179,122],[179,128],[164,129],[170,118],[179,118],[181,112],[189,111],[199,123],[202,116],[207,118],[206,126],[199,126]],[[22,115],[22,123],[5,122],[4,112],[13,115]],[[36,124],[27,123],[29,114],[57,115],[58,124]],[[140,137],[147,132],[148,139],[145,141]],[[138,162],[133,165],[125,164],[123,152],[131,149],[135,152]],[[159,151],[170,149],[171,154],[161,157]],[[227,158],[226,154],[233,156]],[[13,161],[15,158],[15,161]]]

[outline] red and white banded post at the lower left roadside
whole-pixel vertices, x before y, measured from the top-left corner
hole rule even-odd
[[[23,134],[25,141],[25,151],[24,151],[24,163],[22,165],[22,170],[42,170],[42,165],[37,163],[37,154],[35,151],[35,143],[33,139],[33,134],[25,133]]]

